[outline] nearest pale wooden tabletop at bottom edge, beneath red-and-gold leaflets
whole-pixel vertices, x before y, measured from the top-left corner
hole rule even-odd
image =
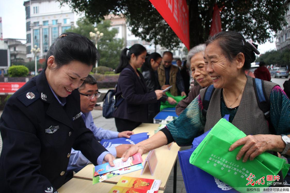
[[[92,181],[73,178],[62,185],[57,191],[59,193],[107,193],[113,186],[115,186],[115,184],[104,182],[93,185]],[[158,191],[158,193],[163,193],[163,191]]]

